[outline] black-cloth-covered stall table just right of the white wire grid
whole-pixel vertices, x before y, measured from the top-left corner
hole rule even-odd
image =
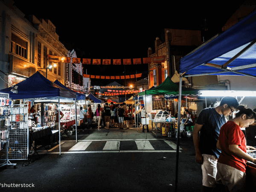
[[[52,131],[50,127],[40,131],[30,131],[29,134],[31,142],[35,141],[35,150],[37,145],[42,145],[47,150],[46,145],[51,148],[52,143],[56,142],[58,144],[59,141],[58,130]]]

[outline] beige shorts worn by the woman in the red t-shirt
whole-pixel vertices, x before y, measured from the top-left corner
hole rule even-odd
[[[246,174],[231,166],[217,163],[216,183],[226,185],[231,192],[243,191]]]

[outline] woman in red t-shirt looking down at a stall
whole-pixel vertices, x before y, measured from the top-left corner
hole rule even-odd
[[[217,163],[216,182],[222,182],[230,192],[243,191],[245,184],[246,162],[256,163],[256,158],[246,153],[246,149],[256,148],[246,146],[246,140],[241,128],[246,128],[256,120],[256,113],[243,105],[237,107],[239,113],[226,122],[220,130],[217,148],[221,154]]]

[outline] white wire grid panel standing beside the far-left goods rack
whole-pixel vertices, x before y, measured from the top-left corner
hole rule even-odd
[[[29,129],[28,129],[28,106],[12,105],[9,122],[9,159],[25,160],[28,156]]]

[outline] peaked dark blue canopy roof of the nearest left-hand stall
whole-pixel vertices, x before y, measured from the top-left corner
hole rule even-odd
[[[0,93],[9,93],[12,99],[31,99],[31,98],[75,98],[76,94],[72,91],[59,87],[57,84],[46,79],[41,73],[36,72],[28,79],[16,84],[18,93],[12,93],[12,87],[0,90]]]

